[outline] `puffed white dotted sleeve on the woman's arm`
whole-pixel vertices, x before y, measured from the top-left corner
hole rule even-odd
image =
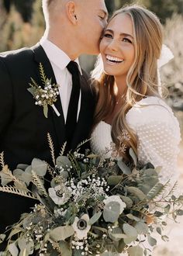
[[[136,133],[138,157],[143,163],[150,161],[161,166],[161,182],[178,176],[177,158],[180,129],[171,109],[164,106],[147,106],[135,109],[128,123]]]

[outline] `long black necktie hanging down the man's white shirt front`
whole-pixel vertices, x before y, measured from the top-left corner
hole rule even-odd
[[[76,62],[70,61],[69,64],[67,64],[67,69],[72,74],[71,98],[69,101],[66,120],[67,150],[71,150],[71,141],[74,136],[74,130],[77,123],[80,78],[78,64]]]

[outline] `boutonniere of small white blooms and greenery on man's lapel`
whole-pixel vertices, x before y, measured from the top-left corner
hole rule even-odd
[[[59,85],[51,84],[51,78],[48,79],[44,73],[43,65],[40,63],[40,77],[43,82],[43,87],[38,85],[36,81],[31,79],[31,83],[29,83],[30,88],[27,90],[33,95],[33,99],[36,100],[35,104],[37,106],[43,106],[44,116],[47,117],[48,106],[50,105],[57,116],[60,116],[57,108],[54,106],[54,102],[57,101],[57,95],[59,95]]]

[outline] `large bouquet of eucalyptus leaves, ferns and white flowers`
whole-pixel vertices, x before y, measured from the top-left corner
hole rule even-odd
[[[54,168],[33,159],[31,165],[19,164],[10,171],[1,154],[0,191],[36,200],[8,238],[0,235],[8,244],[1,255],[147,255],[149,249],[141,244],[156,244],[154,230],[167,240],[162,234],[165,217],[171,214],[176,220],[183,214],[183,196],[174,195],[176,185],[167,189],[170,182],[159,182],[160,168],[141,166],[131,149],[133,164],[128,166],[80,154],[79,149],[66,157],[64,147],[55,159],[49,141]]]

